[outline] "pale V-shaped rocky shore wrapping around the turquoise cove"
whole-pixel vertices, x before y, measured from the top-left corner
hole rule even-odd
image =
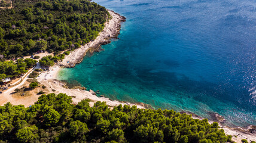
[[[100,45],[104,45],[106,43],[110,43],[109,39],[117,38],[120,34],[121,22],[125,21],[126,18],[121,16],[120,14],[115,13],[114,11],[108,10],[109,14],[111,14],[112,18],[108,22],[105,23],[105,27],[102,32],[99,33],[99,36],[94,41],[87,43],[84,46],[81,46],[75,51],[72,51],[69,55],[66,55],[65,59],[50,68],[50,71],[43,72],[37,77],[38,82],[42,85],[45,85],[49,91],[53,91],[55,94],[65,93],[69,96],[72,96],[72,100],[74,102],[79,102],[84,98],[90,99],[90,105],[93,105],[96,101],[105,101],[107,105],[110,107],[114,107],[119,104],[126,105],[137,105],[138,108],[145,108],[144,105],[141,104],[132,104],[130,102],[121,102],[121,101],[112,101],[109,98],[105,97],[97,97],[95,92],[90,90],[81,90],[81,89],[67,89],[65,88],[64,82],[57,80],[57,76],[60,70],[60,67],[74,67],[76,64],[81,63],[83,61],[84,56],[87,51],[92,48],[99,48]]]

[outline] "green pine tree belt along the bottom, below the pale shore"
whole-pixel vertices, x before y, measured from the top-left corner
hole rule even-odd
[[[35,105],[0,107],[3,142],[227,142],[218,123],[173,110],[144,110],[89,100],[72,104],[66,94],[41,95]]]

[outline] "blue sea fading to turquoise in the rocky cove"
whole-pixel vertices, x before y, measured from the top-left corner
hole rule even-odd
[[[256,125],[256,1],[94,1],[127,18],[120,39],[59,79],[112,100]]]

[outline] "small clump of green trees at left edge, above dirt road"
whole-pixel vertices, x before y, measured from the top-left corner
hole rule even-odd
[[[0,61],[0,79],[5,77],[15,77],[22,73],[26,73],[28,68],[35,66],[36,60],[26,58],[14,61]]]

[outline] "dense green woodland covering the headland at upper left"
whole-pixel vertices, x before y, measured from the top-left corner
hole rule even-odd
[[[86,0],[13,1],[12,9],[0,9],[0,55],[78,48],[97,37],[107,17],[105,7]]]

